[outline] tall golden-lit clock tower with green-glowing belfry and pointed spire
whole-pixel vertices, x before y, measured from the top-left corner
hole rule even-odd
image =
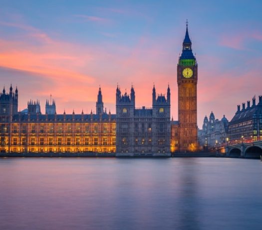
[[[180,151],[194,151],[198,148],[197,82],[198,64],[192,52],[187,22],[182,54],[177,65]]]

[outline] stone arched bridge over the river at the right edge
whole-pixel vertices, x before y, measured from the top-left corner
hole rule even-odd
[[[260,158],[262,155],[262,140],[257,141],[242,141],[240,143],[225,146],[227,156],[245,157],[245,158]]]

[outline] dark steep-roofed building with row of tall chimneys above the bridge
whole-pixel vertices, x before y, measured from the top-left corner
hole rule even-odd
[[[252,106],[250,100],[242,103],[242,109],[238,105],[236,114],[229,122],[229,141],[231,144],[244,140],[262,139],[262,96],[259,96],[259,103],[256,104],[256,97],[253,97]]]

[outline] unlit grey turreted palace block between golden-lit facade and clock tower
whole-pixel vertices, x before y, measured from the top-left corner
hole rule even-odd
[[[152,108],[135,107],[135,90],[130,95],[116,89],[117,152],[170,152],[170,88],[167,97],[152,92]]]

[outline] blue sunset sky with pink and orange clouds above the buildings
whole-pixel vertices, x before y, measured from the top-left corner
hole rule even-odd
[[[115,113],[117,84],[136,106],[171,88],[178,119],[177,63],[188,19],[198,61],[198,125],[262,95],[262,1],[0,0],[0,89],[27,101],[55,99],[56,112],[95,110],[99,85]]]

